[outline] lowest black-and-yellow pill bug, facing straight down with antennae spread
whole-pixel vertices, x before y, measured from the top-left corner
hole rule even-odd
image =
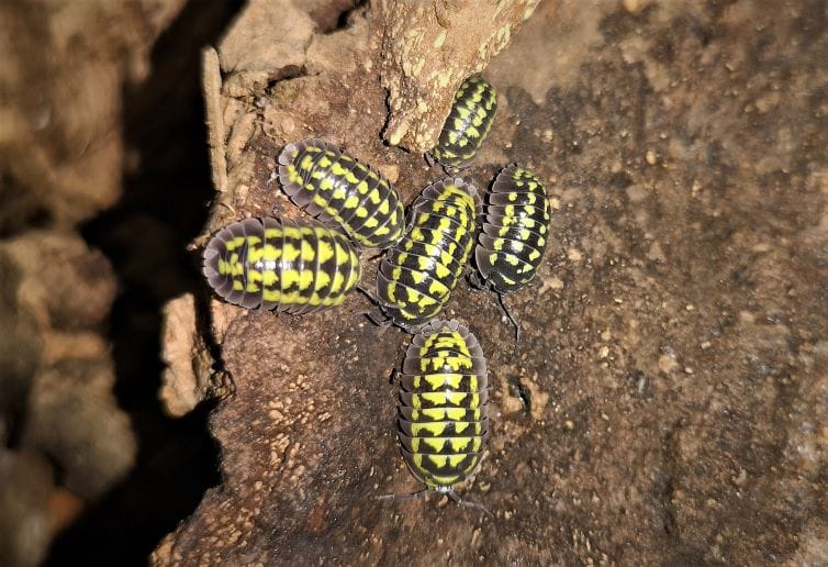
[[[489,437],[488,377],[480,343],[457,320],[433,321],[409,346],[399,381],[398,424],[405,464],[428,489],[459,502],[454,487],[480,466]]]

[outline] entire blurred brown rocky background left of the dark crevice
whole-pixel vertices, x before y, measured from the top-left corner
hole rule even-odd
[[[123,194],[124,91],[183,4],[0,3],[1,565],[46,562],[135,464],[113,392],[119,281],[79,224]]]

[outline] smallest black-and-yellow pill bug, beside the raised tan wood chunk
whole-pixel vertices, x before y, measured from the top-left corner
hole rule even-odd
[[[479,75],[467,78],[455,94],[429,160],[452,170],[468,165],[489,134],[496,110],[494,87]]]

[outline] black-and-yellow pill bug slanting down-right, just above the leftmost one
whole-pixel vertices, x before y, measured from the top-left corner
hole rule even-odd
[[[379,171],[322,140],[288,144],[278,158],[284,192],[307,213],[336,222],[366,248],[388,248],[405,229],[403,204]]]

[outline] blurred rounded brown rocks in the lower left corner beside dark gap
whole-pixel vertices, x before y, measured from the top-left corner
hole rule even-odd
[[[101,336],[116,282],[64,230],[0,241],[0,564],[37,565],[134,463]]]

